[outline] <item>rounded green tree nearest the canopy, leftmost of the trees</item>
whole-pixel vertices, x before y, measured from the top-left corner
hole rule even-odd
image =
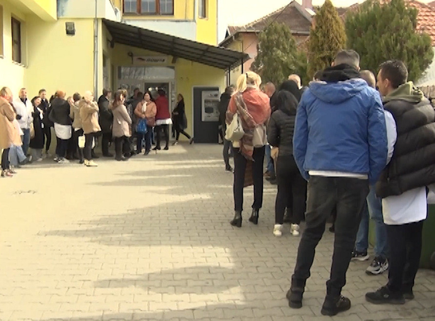
[[[289,74],[304,72],[304,63],[306,57],[297,52],[296,39],[287,25],[273,22],[258,35],[251,70],[261,76],[263,84],[270,81],[279,86]]]

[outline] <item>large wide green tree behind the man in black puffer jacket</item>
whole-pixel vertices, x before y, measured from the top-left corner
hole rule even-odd
[[[418,80],[434,52],[430,36],[416,33],[417,13],[404,0],[384,4],[368,0],[348,13],[347,45],[360,54],[361,68],[376,72],[385,60],[400,59],[408,67],[409,79]]]

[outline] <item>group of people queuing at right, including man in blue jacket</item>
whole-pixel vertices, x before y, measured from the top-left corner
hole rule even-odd
[[[296,267],[287,292],[289,306],[300,308],[315,249],[334,217],[331,275],[323,315],[351,308],[341,295],[351,260],[368,260],[369,217],[376,225],[375,258],[366,273],[389,270],[388,283],[365,298],[374,304],[403,304],[413,287],[427,216],[428,186],[435,183],[435,110],[408,81],[403,62],[388,60],[361,71],[359,55],[343,50],[331,67],[318,71],[303,88],[290,75],[279,89],[261,86],[248,71],[228,87],[219,105],[225,133],[225,169],[233,172],[231,225],[241,228],[243,188],[254,185],[249,221],[258,224],[265,176],[277,182],[275,226],[299,235]],[[376,88],[378,90],[376,90]],[[269,150],[269,152],[268,152]]]

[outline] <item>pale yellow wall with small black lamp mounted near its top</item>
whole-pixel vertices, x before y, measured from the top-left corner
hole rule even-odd
[[[65,21],[74,21],[76,35],[67,36]],[[44,88],[48,94],[65,90],[83,94],[93,90],[93,19],[59,19],[43,22],[38,18],[28,21],[27,46],[29,59],[24,83],[29,95]]]

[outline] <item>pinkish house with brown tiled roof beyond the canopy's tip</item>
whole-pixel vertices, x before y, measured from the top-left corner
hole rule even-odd
[[[250,70],[251,64],[257,56],[258,34],[271,21],[284,23],[289,26],[293,36],[296,38],[297,44],[303,44],[310,35],[314,15],[311,0],[303,0],[302,4],[293,0],[269,15],[244,26],[228,26],[225,39],[219,46],[244,52],[249,55],[250,59],[228,73],[227,83],[235,84],[240,74]]]

